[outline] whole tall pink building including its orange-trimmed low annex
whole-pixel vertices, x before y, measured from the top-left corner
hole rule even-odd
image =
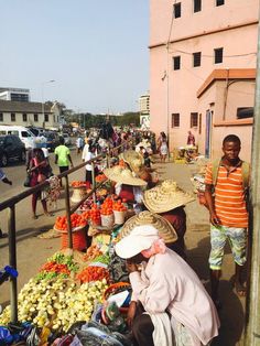
[[[258,12],[258,0],[150,0],[151,130],[171,150],[191,130],[214,158],[236,133],[250,159]]]

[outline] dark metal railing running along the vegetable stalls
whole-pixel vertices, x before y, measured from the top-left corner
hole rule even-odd
[[[89,198],[93,195],[94,202],[96,202],[96,191],[106,183],[106,181],[100,182],[99,184],[96,184],[95,180],[95,163],[100,162],[100,160],[106,160],[106,165],[109,167],[109,158],[113,154],[113,152],[118,152],[121,148],[123,148],[126,143],[120,144],[116,148],[112,148],[107,153],[102,153],[97,155],[96,158],[83,162],[79,165],[63,172],[62,174],[58,174],[58,179],[65,179],[65,209],[66,209],[66,219],[67,219],[67,235],[68,235],[68,247],[73,249],[73,231],[72,231],[72,221],[71,221],[71,215],[77,210],[77,208],[80,206],[83,202],[85,202],[87,198]],[[68,183],[68,175],[80,170],[86,164],[91,164],[91,181],[93,181],[93,188],[91,191],[79,202],[77,203],[73,208],[71,207],[71,201],[69,201],[69,183]],[[15,205],[23,201],[24,198],[31,196],[32,194],[37,193],[39,191],[43,190],[44,187],[48,186],[48,181],[44,181],[40,184],[37,184],[34,187],[30,187],[29,190],[6,199],[4,202],[0,203],[0,212],[3,209],[9,209],[8,214],[8,238],[9,238],[9,266],[13,269],[17,269],[17,227],[15,227]],[[18,282],[17,278],[11,277],[10,278],[10,305],[11,305],[11,322],[17,323],[18,322]]]

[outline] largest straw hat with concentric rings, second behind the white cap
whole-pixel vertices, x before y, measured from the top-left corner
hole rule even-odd
[[[143,203],[152,213],[165,213],[193,202],[194,196],[181,190],[176,182],[166,180],[160,186],[144,192]]]

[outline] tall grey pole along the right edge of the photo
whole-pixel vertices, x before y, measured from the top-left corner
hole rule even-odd
[[[245,346],[260,345],[260,24],[258,25],[258,60],[252,131],[251,212],[249,224],[250,284],[246,306]],[[252,220],[252,223],[251,223]],[[251,239],[251,244],[250,244]]]

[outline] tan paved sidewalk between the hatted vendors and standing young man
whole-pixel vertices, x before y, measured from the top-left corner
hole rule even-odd
[[[193,164],[165,163],[155,164],[160,180],[173,179],[180,187],[187,192],[193,192],[191,183],[192,173],[195,171]],[[209,269],[208,255],[209,244],[209,221],[208,212],[201,206],[197,201],[189,203],[185,207],[187,214],[187,233],[185,242],[187,247],[188,262],[196,271],[201,280],[209,291]],[[223,277],[219,285],[219,295],[223,309],[219,311],[221,327],[219,336],[214,340],[214,346],[235,346],[241,345],[239,342],[242,336],[245,299],[239,299],[232,288],[235,264],[229,246],[225,249],[223,264]]]

